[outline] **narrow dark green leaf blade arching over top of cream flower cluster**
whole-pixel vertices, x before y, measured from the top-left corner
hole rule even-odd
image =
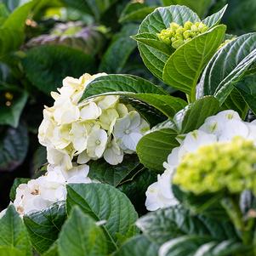
[[[110,92],[128,92],[134,94],[166,94],[155,84],[131,75],[107,75],[90,82],[82,94],[81,100]]]

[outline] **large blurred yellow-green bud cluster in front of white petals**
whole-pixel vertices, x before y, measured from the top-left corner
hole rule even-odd
[[[236,137],[200,147],[187,154],[174,174],[173,182],[196,195],[228,191],[256,194],[256,147],[253,141]]]

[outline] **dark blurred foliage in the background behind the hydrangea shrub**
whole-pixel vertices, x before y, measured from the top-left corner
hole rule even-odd
[[[230,34],[256,30],[255,0],[0,0],[0,210],[14,178],[31,177],[46,162],[37,128],[64,77],[105,71],[162,84],[130,38],[140,21],[163,5],[187,5],[204,17],[226,3]]]

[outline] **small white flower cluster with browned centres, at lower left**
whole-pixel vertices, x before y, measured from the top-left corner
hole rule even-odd
[[[69,183],[91,183],[86,164],[64,171],[59,166],[48,165],[47,174],[20,184],[16,189],[14,207],[20,215],[48,208],[54,202],[65,200],[65,185]]]

